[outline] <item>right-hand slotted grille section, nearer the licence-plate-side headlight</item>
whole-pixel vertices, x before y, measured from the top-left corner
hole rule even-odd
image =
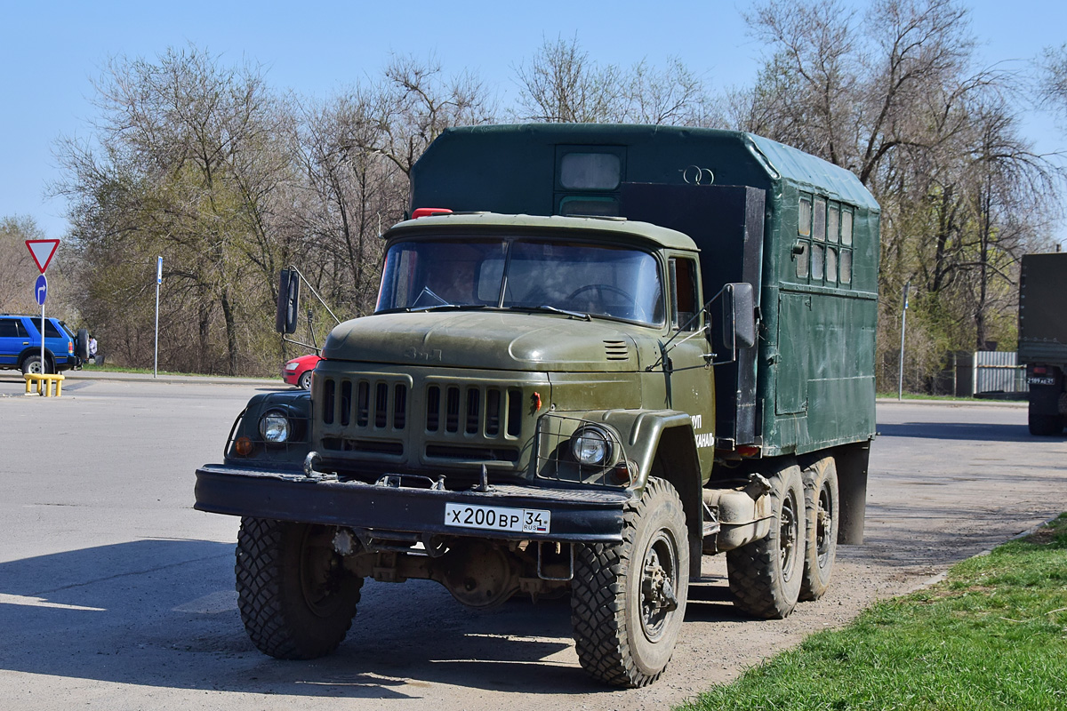
[[[426,431],[509,437],[522,434],[523,391],[480,385],[430,385],[426,389]]]

